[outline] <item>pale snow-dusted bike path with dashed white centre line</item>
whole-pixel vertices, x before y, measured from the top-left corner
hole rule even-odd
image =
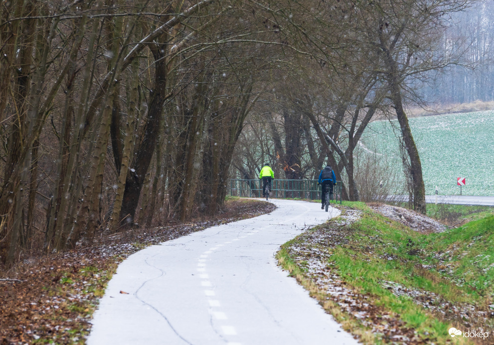
[[[270,214],[131,255],[108,284],[88,344],[357,344],[274,257],[339,211],[272,202],[278,208]]]

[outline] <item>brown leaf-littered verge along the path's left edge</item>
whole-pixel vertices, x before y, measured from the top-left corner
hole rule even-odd
[[[130,254],[273,209],[263,201],[230,200],[216,217],[102,236],[90,248],[33,257],[0,271],[0,345],[84,344],[98,299],[118,263]]]

